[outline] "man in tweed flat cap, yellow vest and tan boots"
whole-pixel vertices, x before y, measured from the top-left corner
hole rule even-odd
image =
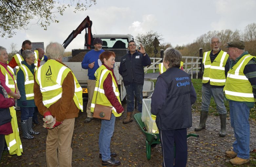
[[[249,163],[250,125],[249,113],[256,99],[256,57],[245,52],[244,41],[227,43],[227,53],[231,59],[224,87],[225,97],[229,101],[231,127],[234,129],[233,150],[226,156],[233,165]]]

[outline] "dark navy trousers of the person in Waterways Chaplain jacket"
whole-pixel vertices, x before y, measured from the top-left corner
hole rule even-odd
[[[176,167],[186,167],[187,129],[159,130],[159,137],[162,145],[163,167],[173,167],[173,165]]]

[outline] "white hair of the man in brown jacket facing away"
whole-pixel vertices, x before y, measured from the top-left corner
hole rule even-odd
[[[46,47],[46,54],[47,54],[47,57],[49,57],[50,59],[56,60],[58,58],[62,58],[64,52],[65,52],[65,48],[57,42],[51,42]]]

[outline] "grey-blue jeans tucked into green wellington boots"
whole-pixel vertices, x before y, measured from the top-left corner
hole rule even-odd
[[[223,88],[213,88],[202,86],[202,111],[209,111],[209,105],[213,97],[219,114],[226,114],[226,107],[224,105]]]

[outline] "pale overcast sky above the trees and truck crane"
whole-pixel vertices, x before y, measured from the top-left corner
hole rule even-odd
[[[10,52],[10,44],[21,49],[24,40],[31,42],[63,41],[86,16],[92,21],[92,34],[144,34],[150,30],[163,35],[172,46],[193,42],[208,31],[238,29],[243,31],[249,23],[256,23],[256,0],[97,0],[86,11],[66,9],[45,31],[38,25],[20,30],[13,38],[1,38],[0,46]],[[17,25],[18,26],[18,25]],[[79,34],[66,48],[83,49],[84,34]]]

